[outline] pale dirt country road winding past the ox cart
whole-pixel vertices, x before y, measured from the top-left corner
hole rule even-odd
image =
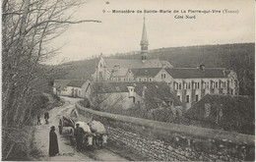
[[[58,122],[70,109],[75,107],[75,102],[78,98],[61,97],[65,104],[60,107],[55,107],[49,111],[50,119],[49,125],[44,124],[44,120],[41,117],[40,126],[34,127],[34,135],[32,145],[37,151],[36,158],[34,160],[43,161],[128,161],[126,158],[113,153],[106,148],[94,147],[92,150],[85,150],[83,152],[75,151],[74,147],[70,145],[70,141],[67,136],[59,135],[58,133]],[[55,133],[58,136],[58,144],[60,155],[49,157],[48,156],[48,145],[49,145],[49,131],[50,127],[55,126]]]

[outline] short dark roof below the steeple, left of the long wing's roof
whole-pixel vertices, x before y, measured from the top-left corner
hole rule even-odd
[[[161,68],[143,68],[143,69],[131,69],[134,76],[147,76],[155,77],[160,72]]]

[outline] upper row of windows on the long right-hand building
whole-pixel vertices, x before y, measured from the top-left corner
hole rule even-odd
[[[190,88],[193,88],[193,89],[199,89],[199,88],[210,88],[210,82],[207,81],[207,82],[203,82],[203,83],[200,83],[200,82],[185,82],[183,84],[183,88],[184,89],[190,89]],[[226,88],[226,82],[225,81],[213,81],[212,82],[212,85],[211,85],[212,88]],[[175,82],[174,84],[174,89],[181,89],[182,88],[182,83],[181,82]]]

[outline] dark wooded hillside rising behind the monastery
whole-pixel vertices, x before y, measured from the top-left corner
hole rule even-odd
[[[233,69],[240,81],[240,94],[254,95],[254,43],[202,45],[160,48],[150,51],[148,58],[169,61],[174,67],[222,67]],[[140,59],[139,51],[109,56],[109,58]],[[98,58],[69,63],[66,79],[91,79]]]

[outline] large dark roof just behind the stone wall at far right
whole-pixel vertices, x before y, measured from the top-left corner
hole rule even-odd
[[[211,105],[209,116],[205,116],[205,104]],[[222,105],[221,105],[222,104]],[[246,95],[221,95],[207,94],[200,101],[196,102],[185,114],[189,119],[201,121],[201,123],[212,123],[215,125],[217,119],[217,110],[222,107],[223,116],[220,126],[237,129],[237,122],[244,127],[240,133],[254,133],[254,97]],[[251,127],[251,131],[248,129]],[[246,130],[247,129],[247,130]]]

